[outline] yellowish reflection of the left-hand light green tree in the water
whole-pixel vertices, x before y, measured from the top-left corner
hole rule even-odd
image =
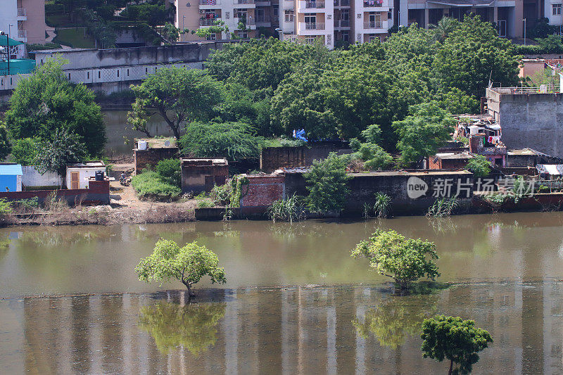
[[[160,352],[182,345],[193,355],[205,352],[217,340],[217,323],[224,317],[224,303],[159,302],[141,307],[139,327],[153,336]]]

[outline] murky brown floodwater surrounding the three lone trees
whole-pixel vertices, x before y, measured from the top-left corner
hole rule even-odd
[[[474,319],[475,374],[563,373],[563,214],[236,221],[0,230],[0,364],[8,374],[436,374],[419,326]],[[435,241],[452,283],[394,295],[350,249],[382,227]],[[197,240],[228,282],[148,285],[159,237]],[[168,289],[177,289],[167,291]]]

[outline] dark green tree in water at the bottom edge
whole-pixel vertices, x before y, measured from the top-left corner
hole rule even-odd
[[[448,375],[469,374],[479,361],[477,352],[493,342],[491,334],[477,328],[474,321],[444,315],[424,319],[421,337],[424,358],[450,360]],[[455,369],[454,363],[458,365]]]

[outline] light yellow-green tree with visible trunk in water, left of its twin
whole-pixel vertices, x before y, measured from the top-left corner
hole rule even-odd
[[[211,283],[226,283],[224,269],[218,267],[219,258],[205,246],[198,246],[196,242],[186,243],[183,248],[174,241],[160,239],[154,251],[148,257],[141,259],[135,271],[139,280],[150,283],[161,283],[173,279],[182,281],[188,288],[188,294],[193,297],[191,286],[205,275],[209,275]]]

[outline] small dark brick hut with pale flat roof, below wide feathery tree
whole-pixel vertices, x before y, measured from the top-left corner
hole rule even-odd
[[[229,177],[229,162],[224,158],[182,159],[182,193],[211,191]]]

